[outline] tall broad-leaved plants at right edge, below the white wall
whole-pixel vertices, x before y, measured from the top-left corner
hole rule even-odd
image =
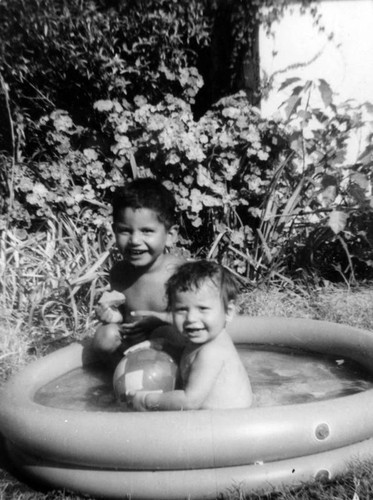
[[[283,83],[282,88],[286,87],[292,90],[284,103],[292,129],[291,147],[297,153],[297,168],[307,181],[305,198],[310,198],[309,208],[314,210],[303,230],[295,265],[333,281],[354,283],[356,278],[369,278],[373,273],[369,135],[356,162],[348,163],[347,153],[351,140],[361,135],[373,106],[352,101],[336,105],[330,86],[322,79],[302,82],[292,78]]]

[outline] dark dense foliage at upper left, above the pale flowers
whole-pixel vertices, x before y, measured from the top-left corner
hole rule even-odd
[[[0,74],[22,113],[28,154],[42,140],[33,122],[65,109],[90,123],[100,98],[156,102],[166,92],[193,102],[195,49],[208,42],[204,3],[152,0],[4,0]],[[7,130],[0,129],[7,141]],[[36,143],[36,144],[35,144]]]

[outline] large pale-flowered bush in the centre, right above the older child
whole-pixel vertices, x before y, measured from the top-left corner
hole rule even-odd
[[[141,175],[159,176],[175,193],[193,252],[208,252],[223,233],[239,248],[253,238],[249,219],[260,216],[263,192],[289,151],[284,127],[261,119],[245,93],[220,100],[198,121],[171,95],[157,105],[138,96],[131,110],[118,101],[95,108],[113,131],[115,165],[135,158]]]

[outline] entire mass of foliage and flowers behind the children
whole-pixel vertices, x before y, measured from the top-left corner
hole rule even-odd
[[[256,22],[270,26],[287,4],[268,0],[260,11],[262,3],[232,11],[246,16],[248,32],[232,33],[238,52]],[[372,150],[353,165],[346,150],[371,105],[337,107],[324,80],[293,78],[283,84],[290,90],[283,119],[263,119],[239,92],[197,120],[203,80],[195,65],[221,7],[207,0],[0,4],[7,117],[0,227],[35,229],[63,214],[93,241],[109,227],[113,189],[151,174],[175,193],[180,244],[222,260],[245,282],[286,281],[304,268],[328,279],[369,276]]]

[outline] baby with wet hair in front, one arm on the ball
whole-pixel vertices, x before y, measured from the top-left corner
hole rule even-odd
[[[232,274],[212,261],[188,262],[168,280],[166,291],[174,325],[187,342],[181,359],[184,388],[139,391],[133,407],[140,411],[249,407],[250,381],[225,329],[237,295]]]

